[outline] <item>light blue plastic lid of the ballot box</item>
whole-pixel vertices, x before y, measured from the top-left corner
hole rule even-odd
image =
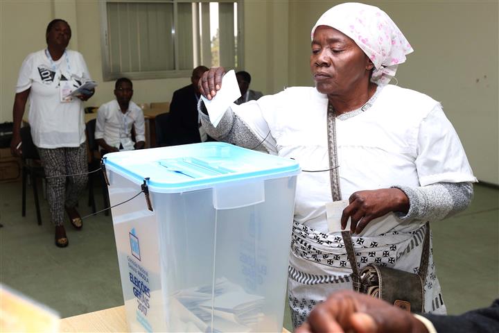
[[[105,166],[161,193],[213,187],[225,182],[295,176],[295,160],[226,144],[204,142],[105,155]]]

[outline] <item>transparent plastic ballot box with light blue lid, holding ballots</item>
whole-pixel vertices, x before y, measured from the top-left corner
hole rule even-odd
[[[281,332],[299,165],[221,142],[105,155],[129,329]],[[142,191],[142,192],[141,192]]]

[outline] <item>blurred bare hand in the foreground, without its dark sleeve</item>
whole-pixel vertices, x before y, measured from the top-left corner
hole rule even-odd
[[[332,293],[311,312],[306,323],[295,333],[358,332],[399,333],[428,332],[410,312],[351,290]]]

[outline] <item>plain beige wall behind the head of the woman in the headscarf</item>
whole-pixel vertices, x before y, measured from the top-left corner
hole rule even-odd
[[[313,85],[310,29],[339,2],[290,1],[291,85]],[[441,101],[475,176],[499,185],[498,1],[363,2],[385,10],[414,48],[399,85]]]

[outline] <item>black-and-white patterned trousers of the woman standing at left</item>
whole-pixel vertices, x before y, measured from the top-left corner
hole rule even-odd
[[[62,225],[64,205],[75,207],[82,190],[87,185],[86,174],[67,177],[64,175],[87,173],[87,144],[80,144],[79,147],[37,148],[45,176],[62,176],[46,180],[51,220],[54,225]]]

